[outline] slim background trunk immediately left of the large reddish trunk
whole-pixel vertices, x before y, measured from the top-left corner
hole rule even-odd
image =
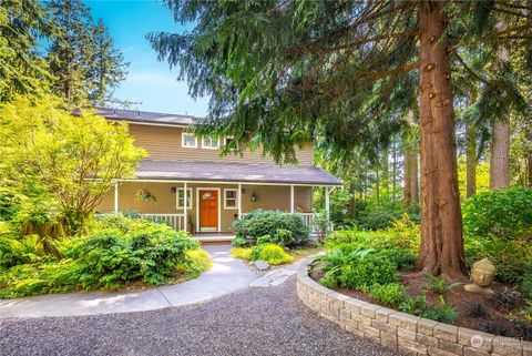
[[[413,125],[413,110],[408,111],[408,121]],[[419,203],[418,185],[418,150],[412,148],[406,135],[405,145],[405,208],[407,212],[415,211]]]

